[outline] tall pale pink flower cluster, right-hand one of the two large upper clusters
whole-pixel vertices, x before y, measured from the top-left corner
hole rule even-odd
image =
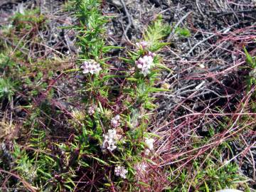
[[[150,68],[154,64],[154,57],[156,56],[155,53],[149,53],[147,55],[144,55],[143,58],[139,58],[136,61],[137,68],[142,70],[142,74],[146,76],[150,73]]]

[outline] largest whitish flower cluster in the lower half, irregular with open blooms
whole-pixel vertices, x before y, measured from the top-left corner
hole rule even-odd
[[[118,140],[122,137],[120,134],[117,134],[116,129],[109,129],[107,134],[103,134],[104,142],[102,144],[102,149],[108,149],[109,151],[114,151],[117,148],[115,144],[117,144]]]

